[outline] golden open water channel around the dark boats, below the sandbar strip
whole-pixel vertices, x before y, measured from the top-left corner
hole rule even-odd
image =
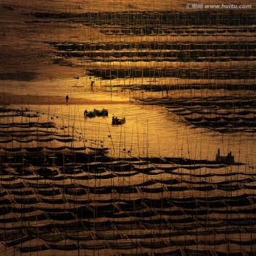
[[[97,110],[107,108],[109,116],[84,118],[84,110],[93,111],[94,107]],[[220,134],[203,128],[191,129],[182,119],[159,106],[115,103],[107,106],[41,105],[35,109],[41,113],[36,120],[55,122],[58,129],[63,129],[63,133],[72,134],[78,139],[73,142],[73,146],[104,146],[110,149],[109,154],[112,156],[124,157],[131,154],[213,160],[220,148],[222,154],[232,151],[235,161],[255,165],[253,134]],[[126,117],[127,122],[113,126],[112,114]],[[3,122],[9,120],[10,117],[6,121],[3,119]],[[32,118],[28,120],[33,121]],[[19,121],[16,118],[14,122]]]

